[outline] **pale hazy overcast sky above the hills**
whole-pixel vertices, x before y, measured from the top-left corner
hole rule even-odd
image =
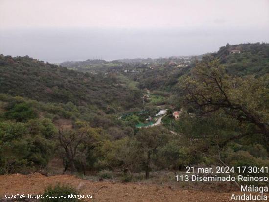
[[[48,62],[269,42],[269,0],[0,0],[0,53]]]

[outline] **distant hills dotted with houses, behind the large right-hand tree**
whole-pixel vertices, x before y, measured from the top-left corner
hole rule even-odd
[[[232,52],[234,50],[235,53]],[[220,47],[216,53],[192,57],[123,59],[112,62],[87,60],[84,61],[84,65],[83,62],[73,62],[73,65],[67,62],[61,65],[82,72],[124,75],[129,82],[138,82],[137,87],[140,89],[175,92],[178,89],[179,78],[188,74],[195,67],[195,63],[213,59],[220,60],[232,76],[261,76],[269,73],[269,44],[227,44]]]

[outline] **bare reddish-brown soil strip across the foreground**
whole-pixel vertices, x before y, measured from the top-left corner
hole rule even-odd
[[[71,175],[46,177],[34,173],[0,176],[0,198],[3,199],[6,193],[42,194],[45,187],[57,183],[72,185],[81,194],[92,194],[93,198],[86,200],[89,202],[228,202],[232,194],[176,189],[157,184],[92,182]]]

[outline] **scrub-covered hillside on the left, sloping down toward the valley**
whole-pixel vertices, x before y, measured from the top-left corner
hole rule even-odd
[[[25,57],[0,56],[0,92],[37,101],[129,109],[141,105],[139,90],[98,75]]]

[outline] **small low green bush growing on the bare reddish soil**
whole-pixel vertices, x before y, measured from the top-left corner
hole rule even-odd
[[[80,194],[75,188],[69,185],[57,184],[54,187],[51,185],[45,189],[44,195],[70,195],[70,194]],[[41,202],[81,202],[78,198],[42,198]]]

